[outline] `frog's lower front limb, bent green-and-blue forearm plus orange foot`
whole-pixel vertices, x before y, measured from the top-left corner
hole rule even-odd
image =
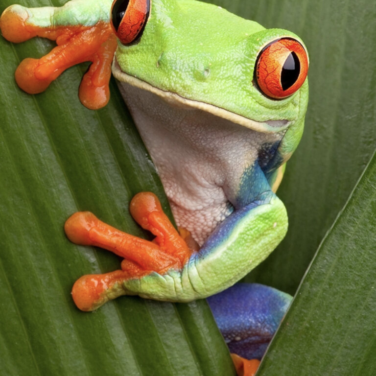
[[[125,258],[122,270],[83,276],[75,283],[72,294],[80,309],[92,310],[126,294],[180,302],[210,296],[249,273],[287,230],[285,208],[270,188],[228,216],[198,252],[189,250],[153,194],[136,195],[130,210],[143,228],[156,235],[153,242],[115,230],[92,213],[76,213],[68,219],[65,229],[73,242]]]

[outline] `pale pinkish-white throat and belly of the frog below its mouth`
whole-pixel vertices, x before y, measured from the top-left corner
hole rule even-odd
[[[178,226],[202,244],[233,210],[244,171],[258,160],[265,134],[203,110],[168,103],[120,83],[143,141],[156,165]]]

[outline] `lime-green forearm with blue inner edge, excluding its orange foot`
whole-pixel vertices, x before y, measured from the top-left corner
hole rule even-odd
[[[125,293],[181,302],[208,297],[248,274],[274,250],[286,231],[286,210],[272,195],[269,203],[252,203],[231,214],[182,270],[125,281]]]

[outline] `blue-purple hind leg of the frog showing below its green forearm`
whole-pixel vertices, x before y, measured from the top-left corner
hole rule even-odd
[[[292,297],[258,283],[238,283],[207,298],[230,352],[261,359]]]

